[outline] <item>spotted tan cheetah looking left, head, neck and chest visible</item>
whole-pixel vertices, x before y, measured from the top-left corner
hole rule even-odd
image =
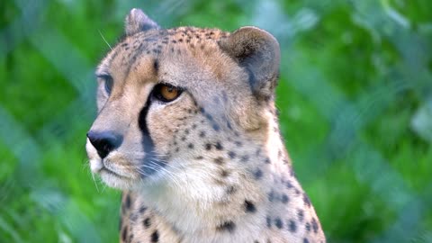
[[[120,242],[326,242],[284,148],[280,49],[257,27],[162,29],[139,9],[96,68],[92,173]]]

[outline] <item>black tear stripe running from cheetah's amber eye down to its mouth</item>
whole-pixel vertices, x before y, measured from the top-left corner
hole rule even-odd
[[[157,171],[157,168],[160,166],[164,166],[165,163],[157,158],[157,155],[155,153],[155,144],[153,143],[153,140],[151,139],[150,133],[148,132],[148,125],[147,125],[147,114],[148,109],[150,108],[151,102],[150,102],[151,94],[148,95],[148,100],[144,107],[142,108],[141,112],[139,112],[139,118],[138,118],[138,124],[139,129],[142,132],[142,148],[144,148],[144,154],[146,155],[141,162],[142,165],[146,166],[140,166],[140,170],[144,172],[145,175],[152,175]]]

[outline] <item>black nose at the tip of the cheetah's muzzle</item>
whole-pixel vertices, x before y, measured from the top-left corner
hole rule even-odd
[[[112,131],[90,130],[87,132],[87,138],[102,158],[106,157],[113,149],[119,148],[123,141],[123,136]]]

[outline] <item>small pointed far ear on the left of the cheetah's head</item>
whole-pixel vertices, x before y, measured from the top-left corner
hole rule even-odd
[[[140,31],[148,31],[150,29],[159,29],[156,22],[148,18],[139,8],[132,8],[126,16],[125,31],[126,35],[130,36]]]

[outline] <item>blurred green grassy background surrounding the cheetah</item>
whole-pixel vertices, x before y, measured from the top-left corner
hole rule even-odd
[[[118,241],[85,132],[103,38],[132,7],[272,32],[286,145],[329,242],[432,242],[430,0],[1,1],[0,242]]]

